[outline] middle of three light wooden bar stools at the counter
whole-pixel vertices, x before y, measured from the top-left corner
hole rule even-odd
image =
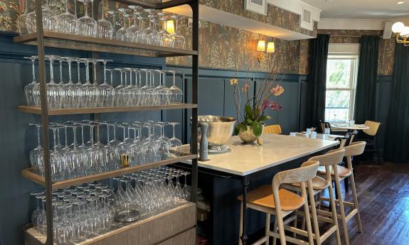
[[[312,158],[309,158],[309,161],[319,161],[319,166],[320,168],[324,168],[326,170],[326,175],[325,178],[321,178],[319,176],[315,176],[312,178],[312,189],[314,190],[314,195],[319,195],[321,197],[322,192],[326,189],[329,190],[329,205],[331,207],[331,215],[327,215],[329,217],[324,217],[323,215],[317,215],[317,212],[319,213],[320,210],[316,209],[316,205],[312,200],[314,201],[314,195],[309,196],[309,201],[310,201],[310,207],[311,207],[311,213],[312,213],[312,224],[314,225],[314,239],[316,241],[317,245],[322,244],[323,241],[328,239],[331,234],[336,234],[336,244],[341,245],[341,238],[339,236],[339,227],[338,227],[338,217],[336,214],[336,206],[335,206],[335,198],[334,198],[334,192],[332,190],[332,180],[331,180],[331,172],[330,168],[334,168],[339,162],[341,162],[342,158],[344,158],[344,153],[345,149],[340,148],[336,149],[334,151],[331,151],[330,153],[326,153],[322,156],[314,156]],[[294,183],[292,186],[285,188],[295,190],[297,192],[301,191],[300,183]],[[321,222],[326,222],[331,224],[331,227],[324,232],[324,234],[320,235],[319,232],[319,225],[318,221]],[[302,229],[304,229],[304,222],[305,219],[303,217],[303,222],[302,222]]]

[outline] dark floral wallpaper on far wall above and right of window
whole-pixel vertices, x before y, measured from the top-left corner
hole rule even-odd
[[[318,30],[319,34],[329,34],[329,43],[360,43],[360,36],[378,35],[383,31],[376,30]],[[381,39],[379,42],[378,75],[393,74],[393,60],[395,57],[395,40]]]

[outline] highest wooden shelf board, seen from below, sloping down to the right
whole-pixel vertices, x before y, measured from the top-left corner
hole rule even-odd
[[[37,45],[37,33],[14,37],[14,43]],[[173,57],[198,55],[198,51],[181,48],[169,48],[142,43],[124,42],[105,38],[92,38],[65,33],[44,31],[44,45],[52,48],[68,48],[104,53],[119,53],[147,57]]]

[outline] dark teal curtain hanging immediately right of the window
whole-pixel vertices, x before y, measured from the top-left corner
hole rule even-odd
[[[354,110],[357,124],[363,124],[366,120],[375,120],[378,48],[379,36],[361,37]]]

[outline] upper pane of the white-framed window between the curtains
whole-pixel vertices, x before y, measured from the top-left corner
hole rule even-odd
[[[328,60],[326,67],[326,87],[349,88],[352,60]]]

